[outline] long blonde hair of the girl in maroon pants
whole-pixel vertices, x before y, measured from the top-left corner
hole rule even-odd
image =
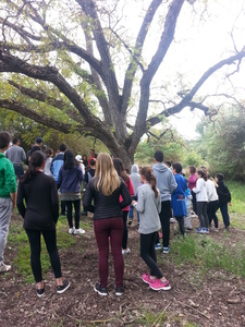
[[[106,153],[100,153],[98,155],[95,177],[98,177],[96,184],[97,190],[107,196],[111,195],[121,183],[112,159]]]

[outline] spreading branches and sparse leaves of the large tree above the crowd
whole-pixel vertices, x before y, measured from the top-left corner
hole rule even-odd
[[[183,8],[194,15],[189,3],[195,1],[144,1],[148,7],[136,35],[121,24],[124,5],[132,2],[3,1],[0,72],[11,74],[2,75],[0,107],[63,133],[93,135],[127,167],[142,136],[163,116],[185,107],[208,114],[206,99],[196,94],[223,66],[236,63],[234,72],[238,71],[244,48],[234,47],[175,97],[169,99],[164,89],[164,99],[151,98],[152,81],[173,44],[179,16]],[[200,1],[195,10],[203,12],[205,4]],[[158,47],[146,60],[146,39],[155,22],[160,26],[155,34]],[[159,102],[163,107],[149,110]]]

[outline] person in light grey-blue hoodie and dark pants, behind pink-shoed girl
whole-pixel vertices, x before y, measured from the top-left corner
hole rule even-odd
[[[154,155],[155,165],[152,166],[154,174],[157,180],[157,187],[161,195],[161,211],[159,214],[162,229],[162,245],[163,253],[169,253],[169,239],[170,239],[170,218],[171,211],[171,194],[177,187],[176,181],[172,171],[163,164],[163,153],[157,150]],[[156,240],[156,250],[161,250],[159,235]]]

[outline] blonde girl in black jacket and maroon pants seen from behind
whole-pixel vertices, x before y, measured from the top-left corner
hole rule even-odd
[[[123,198],[121,203],[120,195]],[[94,205],[91,205],[93,199]],[[84,209],[94,213],[100,277],[100,282],[96,283],[95,291],[99,295],[108,295],[109,238],[114,264],[115,295],[123,294],[122,209],[130,204],[130,192],[124,181],[119,178],[111,157],[108,154],[99,154],[95,178],[88,183],[83,199]]]

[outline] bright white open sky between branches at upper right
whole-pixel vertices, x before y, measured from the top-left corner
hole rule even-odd
[[[149,1],[136,1],[137,5],[147,9]],[[204,11],[204,4],[207,3],[207,11]],[[138,29],[138,20],[131,4],[131,13],[126,12],[132,28]],[[229,58],[234,53],[233,38],[238,50],[245,46],[245,14],[242,9],[244,0],[197,0],[192,8],[187,1],[184,3],[177,20],[174,41],[163,59],[163,62],[156,74],[152,83],[152,89],[162,84],[168,84],[168,96],[176,96],[181,86],[175,83],[176,75],[182,75],[182,83],[186,88],[192,88],[200,76],[213,64],[222,59]],[[194,13],[196,12],[196,14]],[[200,14],[203,16],[200,19]],[[156,51],[162,26],[154,26],[149,31],[146,40],[147,48],[144,49],[144,59],[146,62]],[[158,33],[159,32],[159,33]],[[244,60],[245,61],[245,60]],[[245,64],[244,64],[245,66]],[[207,94],[226,93],[236,94],[242,97],[244,94],[243,85],[245,82],[245,68],[241,65],[241,71],[231,77],[231,81],[224,82],[224,74],[234,70],[233,66],[225,66],[220,72],[211,76],[199,89],[197,96]],[[164,76],[162,78],[162,76]],[[151,92],[152,93],[152,92]],[[164,93],[164,90],[163,90]],[[162,98],[164,94],[162,94]],[[161,95],[158,95],[161,99]],[[219,105],[221,98],[209,99],[206,105]],[[171,124],[177,130],[179,134],[187,140],[195,138],[198,134],[195,132],[196,124],[204,118],[200,110],[184,109],[181,113],[171,117]]]

